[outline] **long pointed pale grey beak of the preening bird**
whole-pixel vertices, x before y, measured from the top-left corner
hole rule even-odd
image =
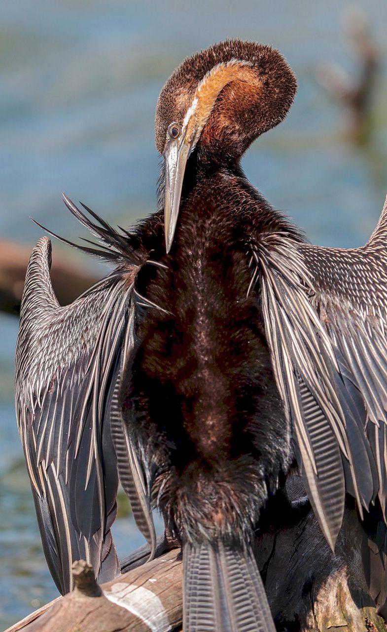
[[[165,247],[170,251],[175,234],[177,216],[184,179],[184,171],[191,149],[191,143],[185,138],[172,140],[164,152],[165,161],[165,203],[164,203],[164,226],[165,226]]]

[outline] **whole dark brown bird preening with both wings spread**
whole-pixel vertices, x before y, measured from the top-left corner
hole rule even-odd
[[[351,497],[385,545],[387,203],[365,246],[313,246],[241,167],[296,87],[282,54],[256,42],[189,57],[157,102],[156,212],[115,229],[63,197],[97,238],[76,247],[114,270],[61,307],[49,238],[33,249],[16,413],[62,593],[79,557],[99,581],[120,573],[119,481],[150,556],[155,508],[182,545],[188,632],[275,631],[254,528],[294,468],[332,550]]]

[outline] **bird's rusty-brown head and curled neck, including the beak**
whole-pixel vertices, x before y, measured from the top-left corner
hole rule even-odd
[[[165,161],[165,243],[170,250],[189,155],[237,161],[286,116],[295,76],[270,46],[227,40],[186,59],[158,97],[156,146]]]

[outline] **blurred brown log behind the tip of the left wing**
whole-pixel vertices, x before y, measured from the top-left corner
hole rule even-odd
[[[0,240],[0,310],[17,314],[23,293],[25,271],[32,248]],[[97,277],[79,270],[68,258],[56,253],[51,269],[52,284],[59,303],[68,305],[90,288]]]

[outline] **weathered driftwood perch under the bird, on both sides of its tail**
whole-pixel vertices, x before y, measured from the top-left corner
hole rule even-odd
[[[360,566],[364,532],[346,509],[335,555],[306,501],[266,525],[256,537],[256,559],[278,632],[386,632]],[[158,553],[165,545],[158,541]],[[131,568],[98,586],[90,567],[76,562],[76,588],[7,632],[164,632],[181,630],[182,561],[179,549],[142,566],[146,547],[125,561]]]

